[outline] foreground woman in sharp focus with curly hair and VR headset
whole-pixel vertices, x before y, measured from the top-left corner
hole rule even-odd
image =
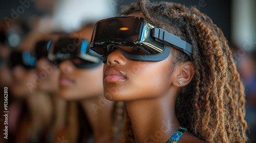
[[[122,142],[246,142],[244,87],[212,20],[143,0],[122,14],[96,22],[90,45],[104,96],[127,109]]]

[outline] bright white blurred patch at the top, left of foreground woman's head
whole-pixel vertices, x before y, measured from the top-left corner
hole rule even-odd
[[[78,30],[85,21],[96,22],[117,14],[114,0],[60,0],[53,13],[53,28],[56,31]]]

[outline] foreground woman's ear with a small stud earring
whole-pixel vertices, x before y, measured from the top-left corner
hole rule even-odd
[[[193,78],[195,74],[195,67],[192,62],[183,62],[176,67],[175,79],[173,85],[176,87],[184,87]]]

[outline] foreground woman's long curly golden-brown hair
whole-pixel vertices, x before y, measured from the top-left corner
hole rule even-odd
[[[180,124],[207,142],[245,142],[244,87],[220,28],[195,7],[181,4],[139,0],[122,10],[125,15],[136,12],[193,45],[191,60],[181,50],[172,48],[173,66],[185,61],[195,66],[193,80],[176,99]],[[135,142],[129,116],[124,136],[123,142]]]

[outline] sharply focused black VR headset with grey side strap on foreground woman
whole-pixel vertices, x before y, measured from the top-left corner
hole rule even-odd
[[[191,57],[192,45],[139,16],[119,16],[95,23],[90,48],[103,57],[118,48],[134,61],[157,62],[166,59],[170,46]]]

